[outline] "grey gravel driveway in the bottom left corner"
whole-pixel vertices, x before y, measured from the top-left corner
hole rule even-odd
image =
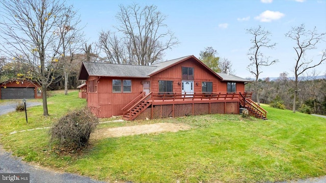
[[[19,158],[6,152],[0,146],[0,173],[30,173],[30,183],[61,183],[61,182],[80,182],[80,183],[99,183],[86,176],[71,173],[61,173],[53,170],[46,170],[41,167],[24,163]]]

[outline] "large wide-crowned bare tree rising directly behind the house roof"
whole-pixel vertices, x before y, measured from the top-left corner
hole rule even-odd
[[[133,64],[148,65],[161,60],[165,50],[178,44],[174,34],[166,29],[166,16],[156,6],[141,7],[132,4],[119,7],[116,18],[120,26],[117,29],[123,34],[122,42],[128,51],[128,58],[125,60],[130,60]]]

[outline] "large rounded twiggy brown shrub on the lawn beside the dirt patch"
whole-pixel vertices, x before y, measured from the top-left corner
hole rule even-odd
[[[97,124],[98,119],[88,109],[73,111],[52,125],[50,142],[70,148],[86,146]]]

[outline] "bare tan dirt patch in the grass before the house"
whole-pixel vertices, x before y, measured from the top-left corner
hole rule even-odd
[[[130,135],[140,134],[155,134],[162,132],[178,132],[179,130],[190,129],[190,126],[185,124],[174,124],[174,123],[155,123],[155,124],[144,124],[135,126],[124,126],[116,128],[106,128],[95,130],[91,134],[91,139],[103,139],[107,137],[122,137]]]

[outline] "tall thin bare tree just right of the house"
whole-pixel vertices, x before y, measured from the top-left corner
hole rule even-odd
[[[278,60],[270,60],[270,57],[265,57],[262,54],[262,49],[264,48],[274,48],[276,43],[270,43],[270,39],[268,38],[271,33],[269,31],[265,31],[260,25],[258,28],[247,29],[247,34],[251,34],[253,38],[251,39],[252,47],[249,49],[249,59],[250,64],[248,65],[248,70],[250,73],[254,74],[256,77],[255,80],[255,92],[256,92],[256,102],[260,105],[259,101],[259,87],[258,87],[258,79],[259,74],[262,73],[261,66],[269,66],[278,62]]]

